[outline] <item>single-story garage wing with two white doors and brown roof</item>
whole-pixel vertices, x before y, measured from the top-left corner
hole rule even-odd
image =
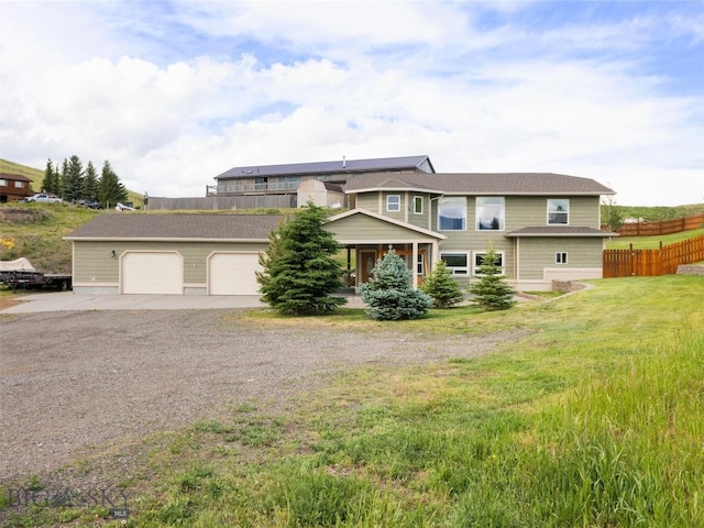
[[[73,242],[76,294],[256,295],[275,215],[106,212]]]

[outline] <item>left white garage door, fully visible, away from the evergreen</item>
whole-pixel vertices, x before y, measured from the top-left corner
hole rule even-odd
[[[184,294],[184,261],[176,252],[128,252],[121,273],[123,294]]]

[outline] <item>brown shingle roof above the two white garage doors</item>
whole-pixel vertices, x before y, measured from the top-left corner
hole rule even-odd
[[[65,240],[267,240],[280,215],[106,212]]]

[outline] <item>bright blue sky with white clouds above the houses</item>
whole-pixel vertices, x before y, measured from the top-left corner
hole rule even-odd
[[[704,1],[0,0],[0,157],[150,196],[428,155],[704,201]]]

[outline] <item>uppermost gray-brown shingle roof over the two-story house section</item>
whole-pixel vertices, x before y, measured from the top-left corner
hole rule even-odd
[[[432,189],[443,195],[613,195],[591,178],[552,173],[361,174],[348,178],[348,194]]]

